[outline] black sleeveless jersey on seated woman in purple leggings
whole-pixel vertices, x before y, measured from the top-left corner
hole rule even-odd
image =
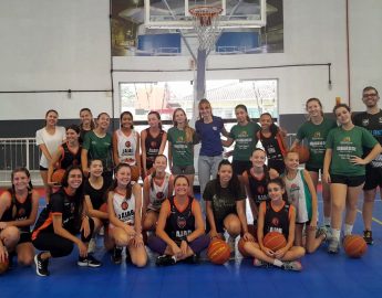
[[[189,235],[195,231],[195,216],[193,214],[194,198],[188,196],[186,209],[180,212],[174,202],[174,196],[169,201],[169,215],[166,221],[165,231],[174,241],[180,241],[182,237]]]

